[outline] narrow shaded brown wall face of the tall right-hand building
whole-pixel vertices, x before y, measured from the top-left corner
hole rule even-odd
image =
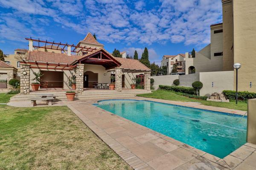
[[[245,9],[246,11],[247,9]],[[233,70],[233,5],[232,0],[222,0],[223,20],[223,71]]]

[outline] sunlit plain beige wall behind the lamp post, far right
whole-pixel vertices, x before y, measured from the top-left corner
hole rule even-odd
[[[239,62],[239,91],[256,92],[256,1],[233,0],[234,63]],[[234,74],[236,72],[234,71]],[[236,75],[235,75],[236,76]],[[236,80],[235,80],[236,81]],[[250,88],[250,82],[252,87]],[[236,82],[234,82],[235,84]],[[235,88],[235,87],[234,87]]]

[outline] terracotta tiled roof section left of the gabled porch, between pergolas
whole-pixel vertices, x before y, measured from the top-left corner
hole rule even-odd
[[[60,64],[71,64],[76,61],[76,59],[81,58],[78,55],[68,56],[63,53],[51,53],[45,51],[29,51],[27,54],[27,61],[37,61],[37,62],[49,62],[49,63],[60,63]]]

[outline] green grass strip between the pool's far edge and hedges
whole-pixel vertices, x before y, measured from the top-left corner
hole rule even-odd
[[[236,102],[211,102],[211,101],[200,100],[200,99],[190,99],[188,97],[180,96],[172,92],[163,91],[163,90],[152,91],[152,93],[150,94],[139,94],[137,96],[154,98],[154,99],[173,100],[173,101],[180,101],[180,102],[201,102],[202,105],[207,105],[207,106],[215,106],[220,108],[230,108],[230,109],[236,109],[241,111],[247,111],[247,103],[245,102],[238,102],[238,105],[236,105]]]

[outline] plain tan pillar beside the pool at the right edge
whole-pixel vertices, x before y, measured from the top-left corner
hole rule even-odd
[[[256,99],[248,100],[246,141],[256,144]]]

